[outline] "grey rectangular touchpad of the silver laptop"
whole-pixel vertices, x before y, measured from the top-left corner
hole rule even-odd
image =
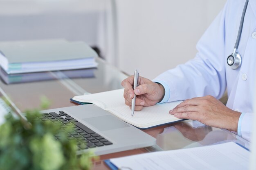
[[[129,127],[122,120],[119,120],[111,115],[85,118],[83,120],[96,127],[100,131]]]

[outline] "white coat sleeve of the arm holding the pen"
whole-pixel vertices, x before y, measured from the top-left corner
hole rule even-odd
[[[168,70],[153,81],[164,84],[169,98],[162,102],[211,95],[221,98],[226,89],[225,13],[219,13],[198,41],[195,58]],[[184,47],[186,48],[186,47]],[[164,97],[165,99],[165,97]]]

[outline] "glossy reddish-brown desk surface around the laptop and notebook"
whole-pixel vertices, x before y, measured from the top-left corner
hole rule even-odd
[[[38,108],[40,96],[46,96],[51,100],[49,109],[74,106],[70,98],[84,93],[97,93],[113,89],[120,89],[121,81],[127,77],[117,68],[97,59],[99,66],[92,70],[92,76],[80,78],[60,78],[54,73],[54,78],[48,81],[36,81],[29,83],[16,83],[7,85],[0,81],[0,87],[7,93],[11,100],[21,110]],[[62,72],[59,72],[60,74]],[[99,161],[95,161],[93,169],[108,169],[103,163],[104,159],[135,155],[161,150],[173,150],[206,146],[222,142],[234,141],[249,147],[249,143],[225,129],[205,126],[198,121],[186,120],[174,124],[143,130],[157,139],[157,145],[148,148],[139,148],[119,153],[101,155]]]

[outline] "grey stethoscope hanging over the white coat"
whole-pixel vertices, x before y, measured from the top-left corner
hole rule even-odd
[[[236,52],[236,50],[238,48],[240,37],[241,37],[241,34],[242,34],[242,29],[243,29],[243,24],[244,24],[245,12],[246,12],[246,9],[247,9],[247,5],[248,5],[248,0],[246,0],[246,2],[245,2],[245,7],[244,7],[243,14],[242,14],[242,17],[241,17],[239,31],[238,31],[238,35],[237,35],[237,38],[236,38],[236,44],[235,44],[235,47],[234,47],[234,51],[233,51],[232,54],[229,55],[229,57],[227,57],[227,64],[234,70],[239,68],[241,63],[242,63],[242,57],[238,52]]]

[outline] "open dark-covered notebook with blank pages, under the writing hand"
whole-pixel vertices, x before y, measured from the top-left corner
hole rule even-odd
[[[169,114],[169,110],[182,101],[157,104],[144,107],[141,111],[135,111],[131,117],[130,108],[125,105],[123,97],[124,89],[112,90],[83,96],[74,96],[70,99],[79,104],[93,103],[104,110],[109,111],[121,120],[132,124],[140,129],[148,129],[162,124],[177,122],[182,119],[175,118]]]

